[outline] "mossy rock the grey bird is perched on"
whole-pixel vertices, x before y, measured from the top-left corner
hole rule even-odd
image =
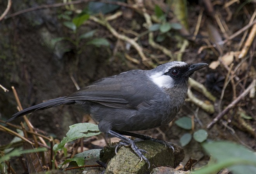
[[[171,148],[152,141],[140,141],[135,143],[138,148],[148,152],[145,157],[149,159],[150,168],[144,160],[133,153],[131,148],[121,147],[115,155],[114,148],[116,144],[105,147],[100,152],[100,160],[107,163],[106,174],[125,174],[125,173],[149,173],[154,167],[169,166],[175,167],[184,158],[184,151],[181,147],[173,145],[175,153]]]

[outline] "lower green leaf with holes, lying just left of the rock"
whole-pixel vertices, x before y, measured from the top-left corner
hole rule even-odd
[[[76,154],[74,155],[73,158],[66,159],[61,165],[59,165],[59,167],[71,161],[75,161],[78,166],[83,166],[85,164],[85,160],[94,160],[94,161],[99,160],[100,150],[101,149],[92,149],[92,150],[86,150],[84,152]]]

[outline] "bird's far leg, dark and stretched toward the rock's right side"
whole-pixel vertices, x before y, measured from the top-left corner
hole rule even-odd
[[[142,140],[149,140],[149,141],[152,141],[152,142],[157,142],[157,143],[163,144],[165,146],[168,146],[169,148],[172,148],[173,152],[174,152],[174,148],[172,146],[172,143],[165,142],[163,140],[158,140],[156,138],[151,138],[150,136],[142,135],[142,134],[138,134],[138,133],[132,133],[132,132],[127,132],[127,131],[118,131],[118,130],[114,130],[114,131],[116,133],[119,133],[119,134],[122,134],[122,135],[132,136],[132,137],[139,138],[139,139],[142,139]]]

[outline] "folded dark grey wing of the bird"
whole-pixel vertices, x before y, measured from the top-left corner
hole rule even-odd
[[[150,82],[145,71],[132,70],[102,78],[65,99],[92,101],[120,109],[137,108],[138,105],[154,99],[156,87]]]

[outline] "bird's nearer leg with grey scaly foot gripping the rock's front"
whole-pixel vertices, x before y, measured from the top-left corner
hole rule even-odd
[[[127,138],[119,133],[117,133],[116,131],[112,131],[112,130],[108,130],[107,133],[109,133],[110,135],[112,136],[115,136],[119,139],[121,139],[123,142],[119,142],[119,144],[117,145],[117,147],[120,147],[120,146],[128,146],[128,147],[131,147],[131,149],[133,150],[133,152],[138,155],[138,157],[140,157],[140,161],[142,161],[142,159],[145,160],[145,162],[147,162],[147,164],[149,164],[149,167],[150,167],[150,162],[149,160],[143,155],[143,153],[147,153],[147,151],[145,150],[142,150],[142,149],[139,149],[137,147],[137,145],[135,145],[135,141],[134,140],[131,140],[130,138]],[[116,149],[117,149],[116,147]],[[115,149],[115,152],[116,152],[116,149]]]

